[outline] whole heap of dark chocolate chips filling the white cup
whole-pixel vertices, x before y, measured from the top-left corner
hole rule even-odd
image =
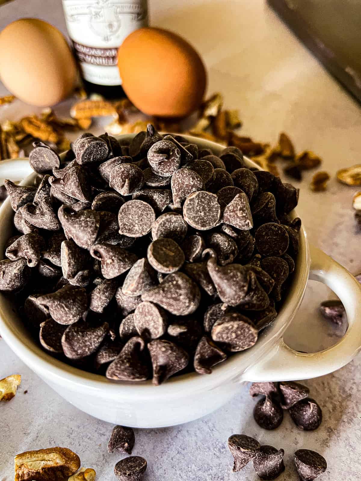
[[[295,268],[298,190],[152,125],[36,143],[35,186],[5,182],[17,229],[0,290],[41,345],[110,380],[209,374],[268,326]]]

